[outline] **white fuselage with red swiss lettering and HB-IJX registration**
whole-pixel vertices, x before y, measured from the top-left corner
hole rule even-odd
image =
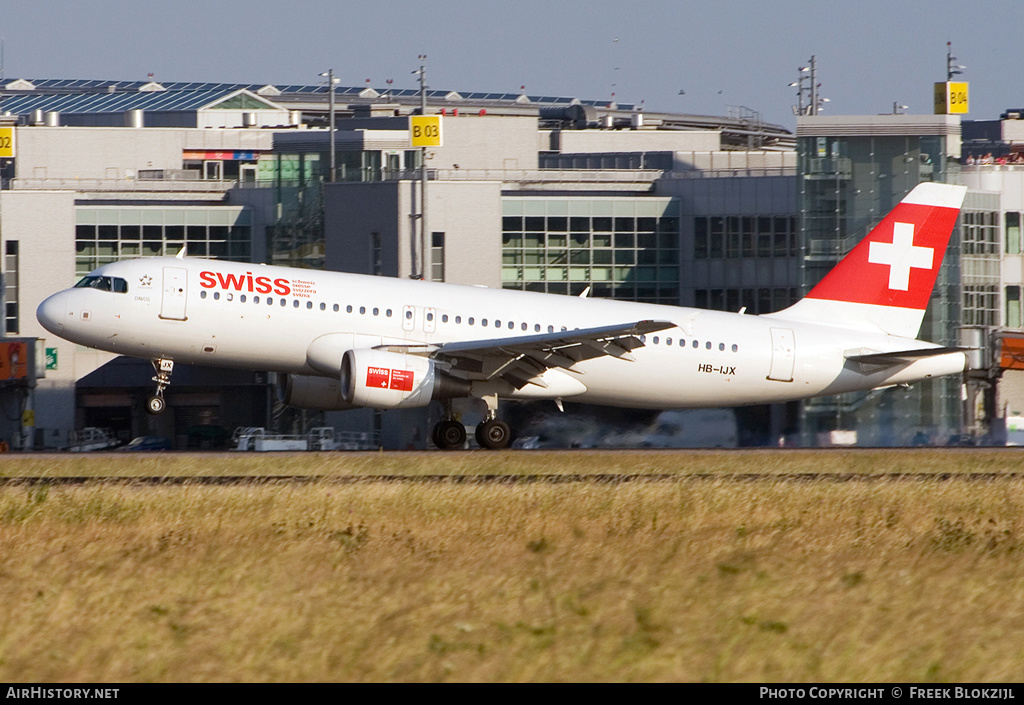
[[[644,408],[719,407],[806,399],[909,383],[964,369],[950,352],[897,366],[848,362],[850,350],[933,347],[833,324],[483,287],[190,258],[116,262],[94,274],[127,291],[69,289],[39,308],[48,330],[137,358],[326,375],[309,365],[318,338],[354,347],[529,336],[642,320],[675,328],[647,335],[635,361],[599,357],[550,370],[547,387],[515,399],[572,398]]]

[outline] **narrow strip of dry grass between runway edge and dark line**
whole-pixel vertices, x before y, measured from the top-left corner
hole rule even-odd
[[[1024,449],[81,453],[0,456],[0,478],[1020,472]]]

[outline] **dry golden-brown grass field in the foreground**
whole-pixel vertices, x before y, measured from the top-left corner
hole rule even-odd
[[[0,474],[1017,472],[1007,451],[9,456]],[[1024,679],[1024,480],[0,488],[0,680]]]

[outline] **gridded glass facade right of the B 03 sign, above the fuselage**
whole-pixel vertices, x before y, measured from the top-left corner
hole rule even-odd
[[[502,285],[678,304],[679,204],[665,198],[505,198]]]

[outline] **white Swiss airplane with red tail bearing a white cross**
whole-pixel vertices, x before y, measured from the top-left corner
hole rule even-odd
[[[175,363],[266,370],[295,407],[438,401],[441,449],[467,439],[453,402],[480,400],[477,443],[502,449],[499,400],[741,406],[963,372],[966,348],[916,335],[966,191],[918,185],[803,299],[760,316],[182,253],[104,264],[36,315],[72,342],[151,360],[150,413]]]

